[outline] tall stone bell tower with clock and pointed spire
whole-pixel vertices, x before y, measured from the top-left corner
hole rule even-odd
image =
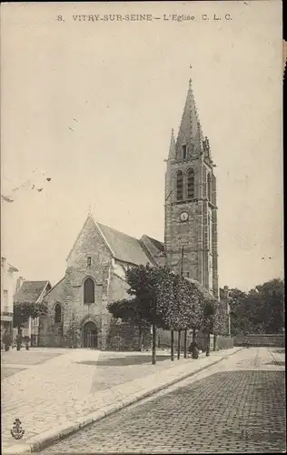
[[[203,137],[192,80],[165,173],[164,244],[167,265],[199,281],[218,297],[216,177],[209,140]]]

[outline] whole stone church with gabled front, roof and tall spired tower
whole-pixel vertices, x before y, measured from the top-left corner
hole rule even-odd
[[[164,244],[148,236],[132,238],[88,215],[64,278],[43,300],[48,313],[40,319],[40,346],[63,346],[73,333],[77,347],[137,347],[136,329],[114,320],[107,304],[127,297],[125,271],[140,264],[167,264],[219,297],[213,167],[190,81],[179,134],[175,141],[172,132],[166,160]]]

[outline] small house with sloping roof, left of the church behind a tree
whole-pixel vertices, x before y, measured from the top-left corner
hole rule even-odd
[[[15,293],[15,304],[40,304],[52,288],[50,281],[23,281]],[[22,336],[31,339],[31,346],[39,344],[39,317],[29,318],[22,329]]]

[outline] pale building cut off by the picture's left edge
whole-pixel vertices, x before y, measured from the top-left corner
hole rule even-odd
[[[18,271],[1,257],[1,339],[6,331],[13,334],[13,298]]]

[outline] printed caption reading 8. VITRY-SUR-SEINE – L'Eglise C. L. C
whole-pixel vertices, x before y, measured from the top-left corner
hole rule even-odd
[[[74,22],[152,22],[152,21],[230,21],[232,16],[229,14],[224,15],[73,15]],[[57,15],[56,19],[64,22],[63,15]]]

